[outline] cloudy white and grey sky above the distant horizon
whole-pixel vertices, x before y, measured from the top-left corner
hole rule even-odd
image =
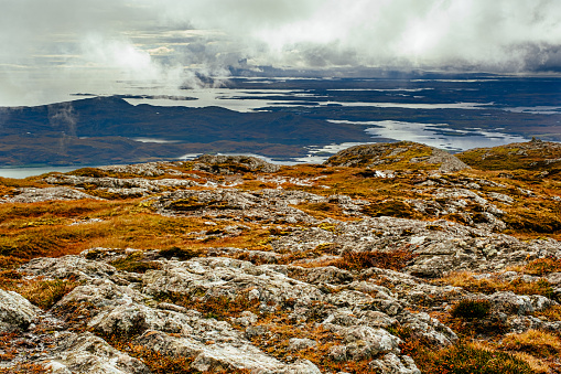
[[[561,1],[0,0],[0,106],[230,66],[558,74]]]

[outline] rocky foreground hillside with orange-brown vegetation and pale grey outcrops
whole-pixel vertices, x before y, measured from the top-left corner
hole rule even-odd
[[[561,180],[526,152],[0,179],[0,373],[560,373]]]

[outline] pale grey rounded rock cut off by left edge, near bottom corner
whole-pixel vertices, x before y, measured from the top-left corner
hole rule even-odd
[[[40,309],[21,295],[0,289],[0,332],[26,329],[39,312]]]

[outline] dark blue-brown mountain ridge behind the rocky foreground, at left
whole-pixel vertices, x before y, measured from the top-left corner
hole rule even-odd
[[[133,106],[117,96],[0,108],[0,165],[143,162],[218,151],[289,158],[305,154],[310,145],[344,141],[373,140],[362,127],[292,113]]]

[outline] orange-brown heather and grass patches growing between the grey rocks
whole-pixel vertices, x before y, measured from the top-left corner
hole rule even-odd
[[[406,162],[412,157],[427,156],[425,148],[412,149],[407,152],[403,160],[395,164],[381,164],[379,170],[397,171],[393,178],[376,178],[373,169],[362,167],[325,167],[325,165],[293,165],[282,167],[278,172],[266,174],[249,172],[238,164],[222,164],[238,172],[240,184],[236,188],[244,191],[258,191],[262,189],[277,189],[282,186],[287,191],[304,191],[320,196],[337,194],[348,195],[352,199],[367,201],[360,213],[365,216],[379,217],[391,216],[400,218],[414,218],[430,221],[431,227],[436,231],[438,220],[457,222],[464,225],[485,223],[481,206],[466,204],[465,210],[455,214],[434,214],[434,212],[420,212],[408,200],[424,200],[431,203],[445,204],[446,199],[436,197],[435,191],[443,185],[462,184],[467,179],[485,180],[488,184],[481,183],[477,193],[487,196],[490,193],[505,194],[513,197],[510,203],[494,201],[504,212],[500,220],[506,223],[506,229],[501,233],[513,235],[521,239],[554,238],[561,239],[561,204],[550,199],[561,195],[561,173],[552,168],[541,165],[533,170],[528,165],[539,161],[539,154],[528,153],[528,160],[513,157],[516,148],[497,149],[496,153],[483,158],[486,151],[474,150],[464,152],[460,158],[477,169],[443,174],[439,179],[431,177],[430,170],[435,168],[423,164]],[[496,163],[492,163],[496,162]],[[192,163],[176,167],[176,170],[190,173]],[[542,172],[550,174],[543,177]],[[211,175],[206,172],[192,172],[203,180],[226,181],[229,175]],[[82,169],[73,172],[74,175],[86,177],[138,177],[132,174],[119,174],[106,172],[99,169]],[[172,174],[163,175],[175,178]],[[162,177],[162,178],[163,178]],[[258,177],[271,177],[270,180],[260,180]],[[161,178],[161,177],[158,177]],[[149,179],[158,179],[149,178]],[[285,182],[274,182],[272,178],[282,178]],[[199,179],[188,177],[193,181]],[[301,185],[296,179],[306,179],[309,183]],[[438,188],[431,186],[432,182],[441,183]],[[465,184],[465,183],[464,183]],[[25,180],[10,180],[0,178],[0,196],[13,196],[21,188],[47,186],[41,178]],[[161,215],[154,209],[144,203],[144,197],[125,199],[118,194],[109,194],[96,186],[85,186],[85,190],[100,197],[110,200],[79,200],[67,202],[36,202],[36,203],[3,203],[0,204],[0,288],[17,291],[28,298],[32,303],[48,310],[65,295],[79,286],[73,279],[46,279],[42,277],[26,277],[15,269],[25,261],[36,257],[61,257],[76,255],[93,247],[105,248],[136,248],[136,249],[161,249],[162,258],[177,258],[187,260],[207,256],[208,248],[236,247],[249,252],[228,254],[227,256],[250,260],[260,265],[270,263],[293,264],[299,261],[301,267],[313,268],[322,266],[335,266],[348,270],[354,275],[377,267],[391,270],[403,269],[409,261],[416,260],[418,254],[414,246],[403,246],[389,250],[389,247],[376,250],[342,250],[335,243],[314,244],[313,249],[294,253],[280,253],[276,260],[265,260],[262,257],[251,256],[251,250],[271,252],[274,241],[290,235],[294,228],[321,228],[331,234],[337,234],[337,224],[328,220],[338,220],[343,223],[363,220],[358,215],[348,215],[335,201],[328,200],[322,203],[300,203],[292,205],[300,211],[317,220],[327,220],[321,224],[280,224],[262,223],[244,220],[239,215],[218,215],[208,225],[208,218],[198,216],[176,217]],[[194,186],[192,190],[207,190],[203,186]],[[525,190],[531,190],[532,195],[526,195]],[[490,197],[488,197],[490,199]],[[204,209],[205,205],[197,200],[175,202],[175,207],[182,213],[191,213]],[[227,205],[216,205],[216,211],[227,211]],[[472,223],[466,220],[465,213]],[[103,221],[89,221],[100,218]],[[80,223],[72,225],[73,223]],[[248,228],[237,234],[229,234],[227,227],[245,225]],[[201,233],[205,232],[205,235]],[[408,234],[408,233],[406,233]],[[406,235],[403,234],[403,235]],[[410,233],[409,233],[410,234]],[[313,261],[321,256],[338,256],[326,260]],[[90,256],[95,256],[91,254]],[[309,263],[302,260],[311,260]],[[158,261],[144,259],[142,253],[133,253],[122,258],[110,261],[118,270],[142,274],[161,268]],[[561,271],[559,258],[539,258],[526,261],[516,267],[516,270],[527,275],[546,277],[552,273]],[[367,273],[367,271],[363,271]],[[291,274],[289,273],[289,276]],[[552,285],[541,278],[538,281],[514,280],[506,281],[498,276],[489,278],[475,278],[475,273],[452,273],[444,277],[432,280],[433,285],[450,285],[462,287],[470,292],[493,293],[496,291],[513,291],[517,295],[542,295],[553,297]],[[302,278],[304,279],[304,278]],[[396,285],[387,279],[367,278],[371,282],[378,282],[396,290]],[[277,309],[276,312],[260,312],[260,304],[250,301],[246,289],[237,297],[212,296],[201,289],[192,295],[168,292],[159,295],[157,301],[171,302],[187,309],[194,309],[206,318],[230,321],[242,311],[252,311],[259,317],[257,325],[266,325],[273,338],[265,335],[251,338],[251,343],[263,352],[285,360],[305,359],[312,361],[322,371],[348,372],[348,373],[374,373],[368,366],[371,360],[335,362],[330,359],[330,350],[341,343],[343,338],[323,329],[319,322],[326,317],[319,313],[310,320],[296,323],[289,318],[289,306]],[[430,298],[429,298],[430,299]],[[292,300],[295,302],[295,300]],[[440,309],[431,312],[432,317],[439,318],[444,324],[454,330],[461,341],[452,346],[436,349],[433,344],[416,335],[414,332],[401,327],[399,323],[388,330],[403,340],[400,349],[403,354],[409,354],[422,373],[460,374],[460,373],[559,373],[559,362],[555,359],[561,354],[559,334],[541,330],[528,330],[521,334],[505,334],[507,331],[499,322],[490,320],[482,322],[488,317],[488,310],[479,304],[466,304],[467,301],[458,299],[445,300],[452,306],[450,311]],[[464,302],[464,304],[462,304]],[[477,300],[475,301],[477,303]],[[462,304],[463,310],[458,306]],[[430,311],[430,302],[425,306],[412,306],[414,311]],[[314,306],[316,307],[316,306]],[[85,331],[85,321],[88,319],[88,306],[69,306],[64,311],[71,316],[66,323],[73,325],[74,331]],[[327,308],[327,307],[326,307]],[[56,308],[53,311],[56,312]],[[317,308],[322,310],[322,308]],[[314,309],[315,310],[315,309]],[[475,310],[475,312],[474,312]],[[61,311],[58,311],[61,312]],[[62,313],[62,312],[61,312]],[[539,312],[532,313],[547,321],[561,320],[561,307],[552,306]],[[62,316],[62,314],[61,314]],[[244,327],[234,325],[242,329]],[[18,352],[25,350],[23,346],[14,346],[15,335],[2,334],[0,336],[0,360],[7,361],[14,357]],[[152,373],[157,374],[183,374],[195,373],[188,368],[193,362],[190,357],[172,357],[136,345],[122,336],[105,336],[107,341],[118,350],[138,357],[144,362]],[[317,342],[314,348],[301,351],[289,351],[288,341],[291,338],[308,338]],[[44,373],[45,371],[34,364],[21,364],[19,366],[0,368],[0,374],[8,373]],[[224,371],[226,373],[226,371]],[[228,373],[247,373],[247,371],[229,371]]]

